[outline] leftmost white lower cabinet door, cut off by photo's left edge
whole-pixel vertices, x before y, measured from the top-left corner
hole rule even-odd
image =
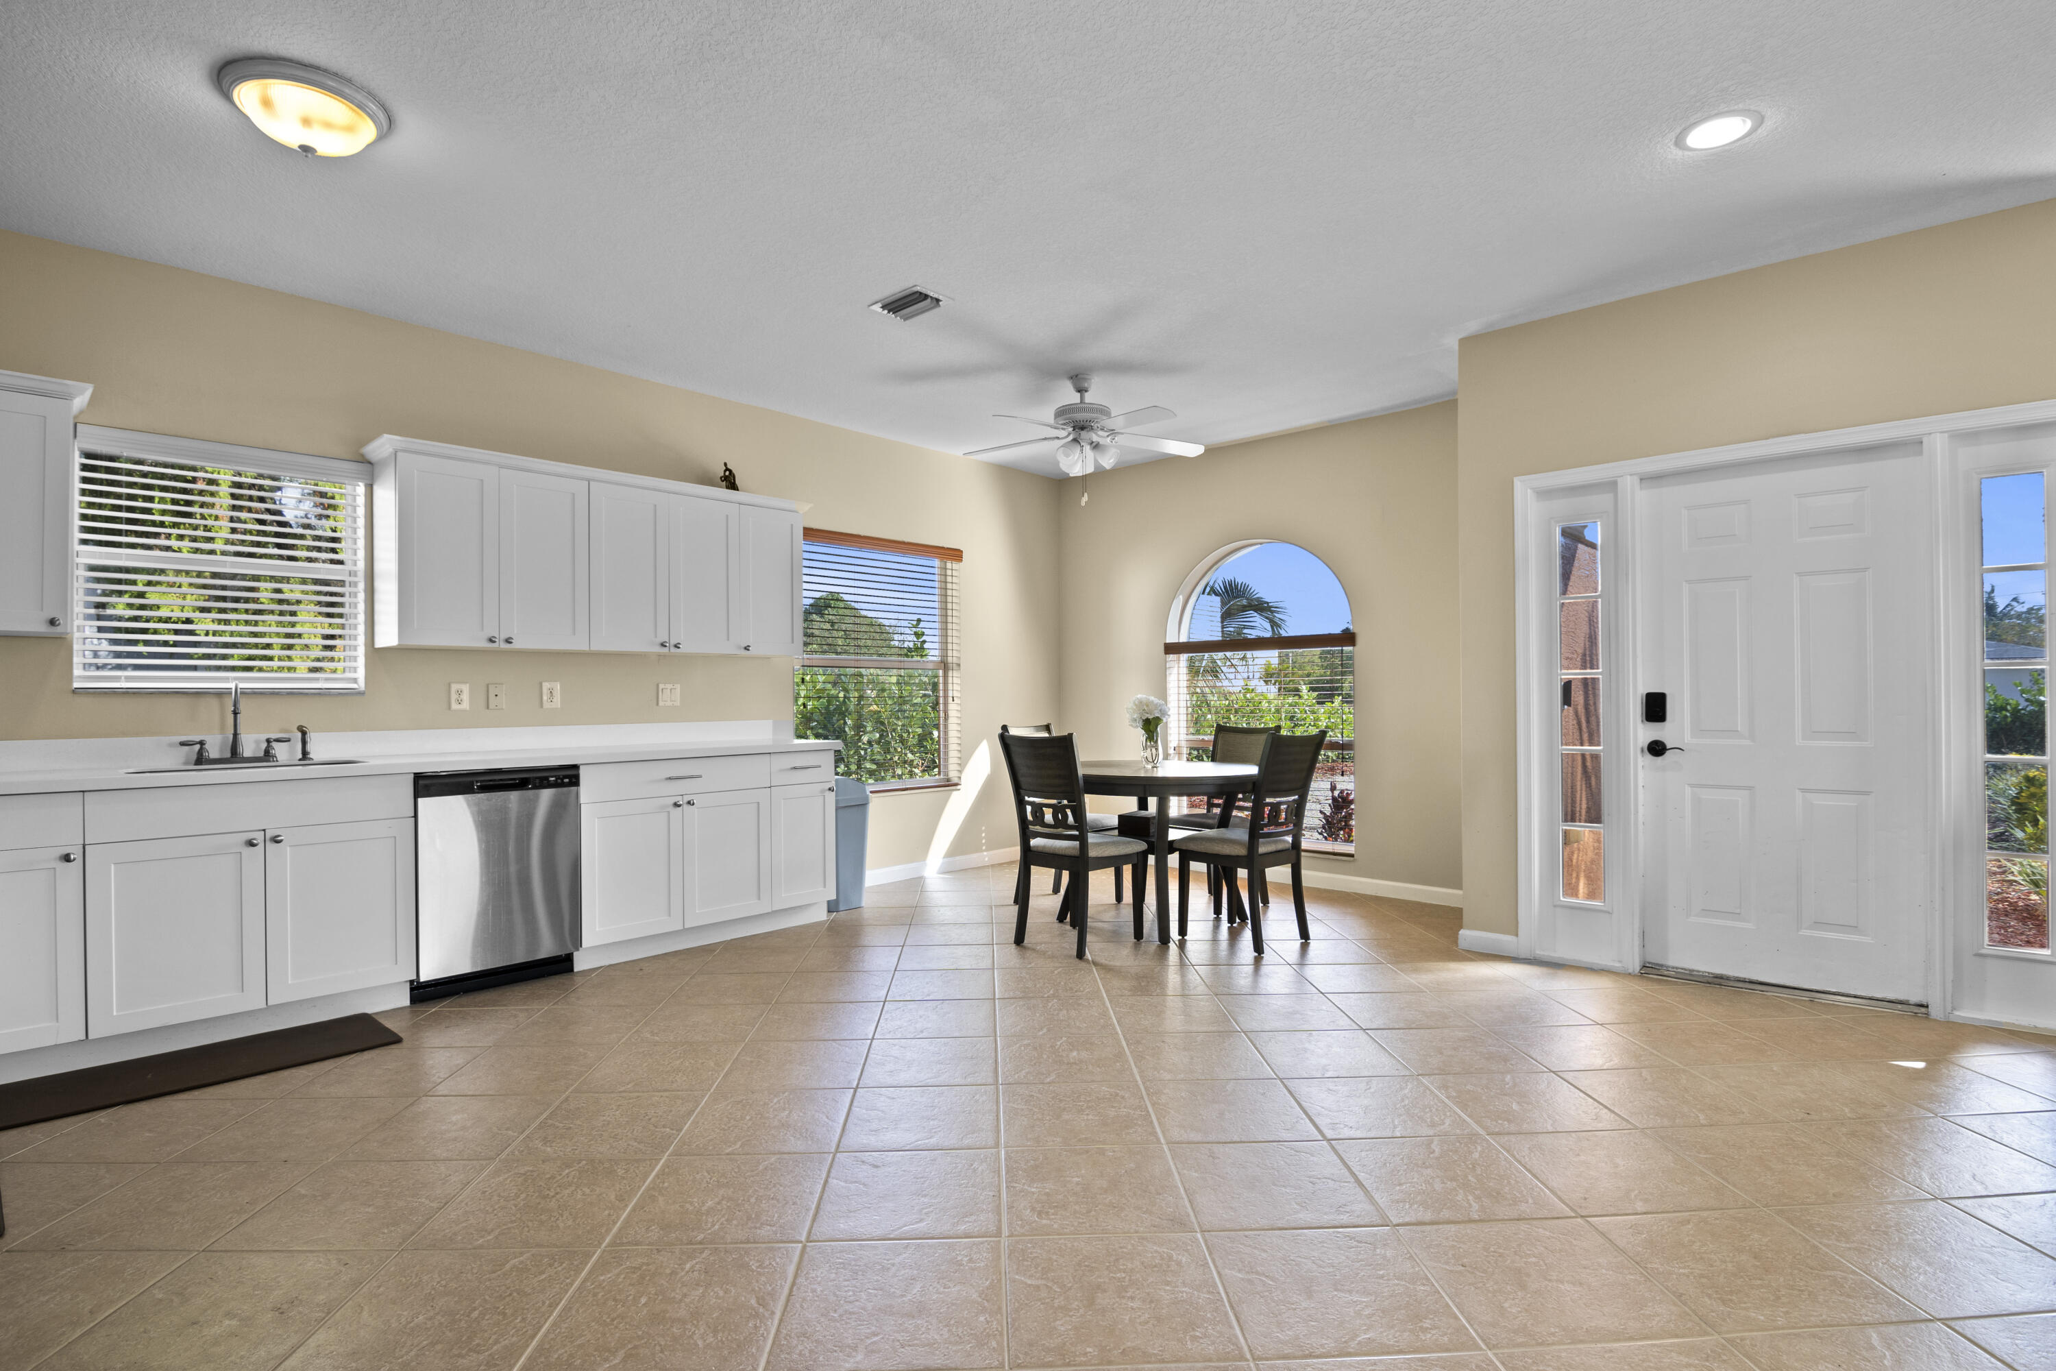
[[[0,853],[0,1052],[86,1036],[86,872],[76,847]]]

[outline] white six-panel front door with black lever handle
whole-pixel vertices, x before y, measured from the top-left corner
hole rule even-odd
[[[1906,442],[1643,485],[1647,964],[1926,1001],[1924,471]]]

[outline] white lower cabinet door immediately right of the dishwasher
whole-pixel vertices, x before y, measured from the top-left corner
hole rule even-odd
[[[678,795],[582,804],[582,946],[685,927],[685,802]]]

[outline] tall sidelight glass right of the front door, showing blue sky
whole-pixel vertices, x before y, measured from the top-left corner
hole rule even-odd
[[[2048,952],[2048,526],[2040,471],[1980,481],[1984,941]]]

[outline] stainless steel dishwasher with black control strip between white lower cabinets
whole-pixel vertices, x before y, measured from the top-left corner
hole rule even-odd
[[[578,767],[413,779],[415,1003],[572,970]]]

